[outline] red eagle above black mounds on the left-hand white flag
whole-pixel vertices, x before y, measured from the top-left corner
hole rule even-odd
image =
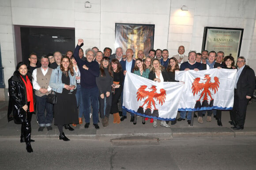
[[[166,90],[165,89],[160,89],[160,93],[157,93],[157,89],[155,85],[152,85],[151,91],[146,91],[145,89],[147,88],[147,85],[141,85],[140,88],[137,91],[137,101],[143,100],[146,98],[146,100],[143,101],[143,105],[139,107],[138,113],[149,115],[149,116],[154,116],[158,117],[158,109],[155,107],[155,100],[161,103],[161,106],[163,103],[165,103],[166,100]],[[143,110],[143,106],[147,104],[145,113]],[[151,115],[151,107],[152,105],[154,106],[154,111]]]

